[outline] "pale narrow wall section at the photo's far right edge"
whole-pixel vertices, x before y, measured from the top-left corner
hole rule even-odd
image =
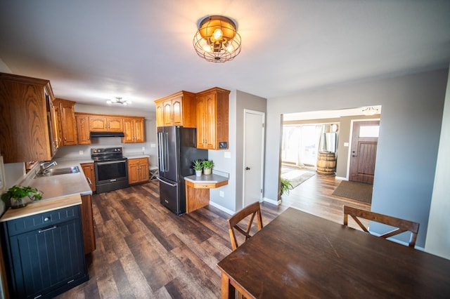
[[[425,251],[450,259],[450,74],[442,117]]]

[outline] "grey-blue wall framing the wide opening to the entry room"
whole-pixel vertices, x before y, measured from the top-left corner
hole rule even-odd
[[[447,75],[448,69],[439,69],[269,99],[264,197],[278,199],[282,114],[378,103],[383,105],[383,113],[372,210],[420,222],[417,245],[424,246]]]

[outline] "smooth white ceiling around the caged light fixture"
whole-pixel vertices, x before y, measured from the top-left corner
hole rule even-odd
[[[232,61],[193,50],[214,14],[238,22]],[[214,86],[274,98],[449,62],[449,0],[0,0],[0,69],[90,105],[119,96],[154,111]]]

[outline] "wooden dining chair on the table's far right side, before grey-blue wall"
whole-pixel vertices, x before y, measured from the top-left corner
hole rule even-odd
[[[361,210],[360,208],[353,208],[352,206],[344,205],[344,225],[348,225],[348,215],[352,216],[356,223],[358,223],[359,227],[361,227],[364,232],[369,232],[368,227],[366,227],[359,218],[380,222],[385,225],[390,225],[392,227],[396,227],[394,230],[390,232],[386,232],[385,234],[381,234],[379,237],[389,238],[395,236],[396,234],[401,234],[402,232],[411,232],[411,237],[409,238],[409,247],[414,248],[416,246],[417,234],[419,232],[419,223],[413,222],[409,220],[404,220],[401,218],[395,218],[388,215],[383,215],[371,211]],[[370,233],[370,232],[369,232]]]

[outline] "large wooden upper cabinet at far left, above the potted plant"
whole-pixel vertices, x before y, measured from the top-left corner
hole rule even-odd
[[[0,73],[0,152],[4,163],[46,161],[56,152],[50,81]]]

